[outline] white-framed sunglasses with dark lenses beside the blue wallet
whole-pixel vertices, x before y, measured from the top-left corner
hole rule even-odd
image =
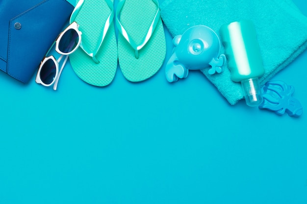
[[[69,54],[75,52],[81,44],[82,33],[78,30],[78,27],[79,25],[73,22],[59,34],[55,40],[55,51],[61,54],[61,56],[58,60],[53,55],[44,57],[36,74],[36,83],[42,84],[45,87],[53,84],[53,90],[56,90],[59,77],[65,67]],[[59,69],[63,56],[65,56],[64,62]]]

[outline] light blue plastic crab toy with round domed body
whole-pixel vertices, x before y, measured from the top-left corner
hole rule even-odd
[[[189,69],[209,68],[208,73],[224,71],[226,56],[219,55],[221,42],[218,35],[205,25],[196,25],[173,39],[173,55],[169,59],[165,74],[169,82],[186,78]]]

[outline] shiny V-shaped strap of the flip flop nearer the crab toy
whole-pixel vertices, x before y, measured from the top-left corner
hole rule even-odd
[[[135,58],[139,58],[139,50],[142,49],[146,45],[146,43],[149,41],[149,39],[153,35],[153,32],[156,28],[157,23],[160,20],[159,2],[157,0],[153,0],[153,2],[157,5],[157,11],[155,13],[155,16],[153,18],[153,22],[150,25],[146,36],[143,38],[142,42],[139,45],[137,45],[133,41],[133,39],[128,34],[128,32],[126,31],[126,29],[124,28],[124,26],[122,25],[122,23],[119,20],[119,14],[120,14],[125,2],[126,2],[126,0],[120,0],[118,2],[117,10],[116,10],[116,22],[115,23],[116,23],[116,26],[117,26],[119,32],[124,36],[124,38],[128,41],[128,43],[131,45],[131,47],[133,47],[133,49],[135,50]]]

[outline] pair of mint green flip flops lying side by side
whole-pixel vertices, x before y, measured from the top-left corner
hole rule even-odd
[[[94,86],[107,86],[117,61],[131,82],[144,81],[162,66],[166,43],[157,0],[77,0],[71,17],[82,32],[82,47],[70,55],[77,76]],[[115,23],[119,30],[116,41]],[[86,53],[84,50],[92,50]]]

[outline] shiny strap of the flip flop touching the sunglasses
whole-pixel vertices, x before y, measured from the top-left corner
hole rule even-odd
[[[99,60],[97,60],[96,58],[96,54],[97,52],[99,51],[101,45],[102,45],[102,42],[106,36],[106,33],[111,25],[111,23],[113,22],[113,18],[114,18],[114,6],[113,6],[113,2],[111,0],[104,0],[107,5],[109,6],[109,8],[111,9],[111,13],[110,15],[108,16],[106,22],[104,23],[104,26],[103,26],[103,30],[101,32],[101,35],[99,37],[99,44],[97,44],[95,50],[93,52],[90,52],[89,49],[87,47],[85,47],[84,45],[82,45],[82,41],[81,41],[81,44],[80,44],[80,47],[82,48],[82,50],[88,54],[89,56],[91,56],[94,60],[95,63],[99,63]],[[73,23],[77,17],[77,14],[79,13],[81,7],[83,6],[83,3],[84,3],[84,0],[79,0],[72,15],[71,15],[71,18],[69,20],[70,23]]]

